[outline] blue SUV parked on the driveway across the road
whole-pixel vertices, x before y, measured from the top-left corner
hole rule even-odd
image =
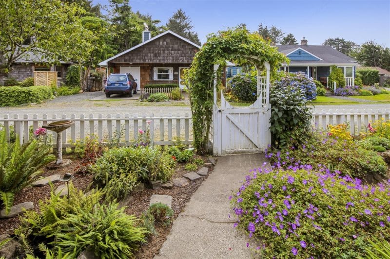
[[[104,86],[106,97],[110,97],[114,93],[124,93],[128,97],[133,97],[133,93],[137,93],[136,81],[137,79],[134,79],[130,73],[111,74]]]

